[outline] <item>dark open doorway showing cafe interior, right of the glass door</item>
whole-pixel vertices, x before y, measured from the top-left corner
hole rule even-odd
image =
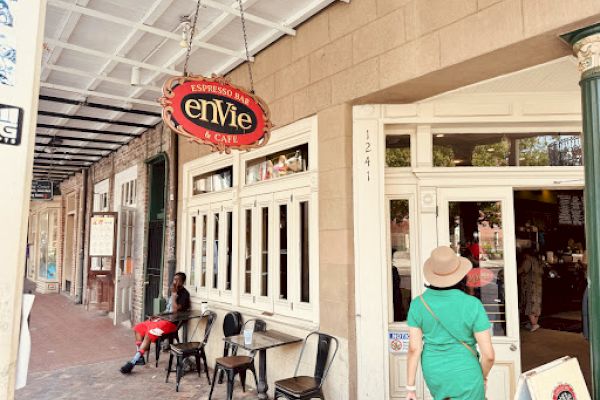
[[[517,190],[514,208],[522,369],[577,357],[589,387],[583,190]]]

